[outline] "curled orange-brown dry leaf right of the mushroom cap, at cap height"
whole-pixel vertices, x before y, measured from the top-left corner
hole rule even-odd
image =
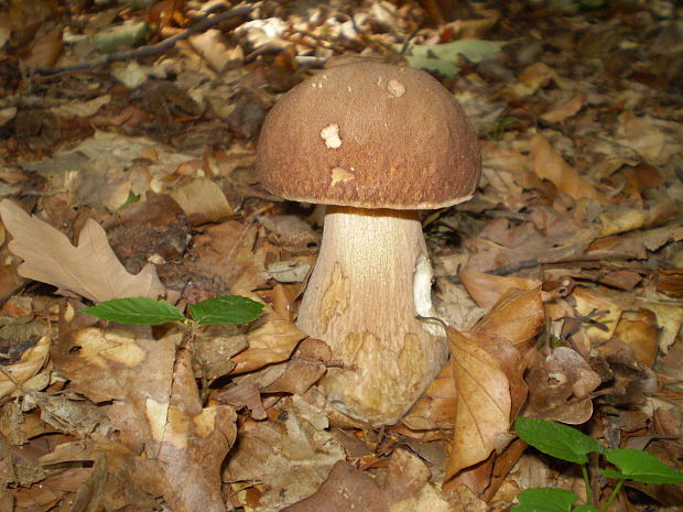
[[[542,179],[548,179],[560,192],[574,199],[600,197],[598,190],[567,164],[543,135],[536,133],[531,138],[531,157],[533,170]]]

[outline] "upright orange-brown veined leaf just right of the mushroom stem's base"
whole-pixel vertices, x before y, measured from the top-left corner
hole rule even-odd
[[[479,344],[448,328],[457,410],[447,478],[486,460],[510,426],[510,384],[500,363]]]

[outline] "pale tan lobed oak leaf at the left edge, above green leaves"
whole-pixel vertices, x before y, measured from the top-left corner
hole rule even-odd
[[[0,201],[0,216],[13,237],[10,250],[22,258],[19,274],[57,286],[62,294],[77,294],[94,302],[148,296],[165,291],[156,270],[147,264],[139,274],[129,274],[117,259],[102,227],[88,219],[78,237],[78,247],[47,222],[30,216],[9,199]]]

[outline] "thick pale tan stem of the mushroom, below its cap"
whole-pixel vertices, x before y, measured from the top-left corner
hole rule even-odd
[[[415,318],[426,258],[415,210],[328,207],[297,324],[342,362],[321,382],[328,400],[373,425],[397,423],[447,357],[445,338]]]

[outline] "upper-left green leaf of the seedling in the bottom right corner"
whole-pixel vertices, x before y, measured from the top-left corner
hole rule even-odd
[[[514,429],[519,437],[540,451],[575,464],[588,462],[588,454],[605,454],[607,449],[597,440],[576,428],[560,423],[518,417]]]

